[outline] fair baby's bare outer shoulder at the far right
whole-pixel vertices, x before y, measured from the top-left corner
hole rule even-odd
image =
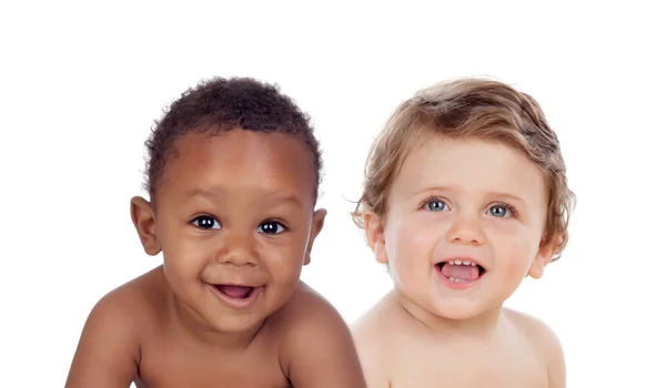
[[[524,333],[529,343],[534,344],[537,351],[544,357],[548,370],[548,387],[565,387],[564,351],[555,331],[543,320],[525,313],[505,308],[504,314],[512,325]]]

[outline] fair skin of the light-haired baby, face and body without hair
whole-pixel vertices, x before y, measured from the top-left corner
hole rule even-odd
[[[563,388],[554,334],[503,307],[554,252],[542,172],[497,142],[428,134],[395,177],[369,245],[394,289],[353,334],[371,388]]]

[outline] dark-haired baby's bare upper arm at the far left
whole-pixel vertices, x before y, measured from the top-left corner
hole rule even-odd
[[[65,388],[128,388],[138,371],[139,343],[127,295],[112,292],[93,307],[83,327]]]

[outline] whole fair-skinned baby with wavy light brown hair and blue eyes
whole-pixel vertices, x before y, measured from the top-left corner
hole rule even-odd
[[[394,282],[353,327],[369,387],[565,387],[553,330],[503,304],[559,258],[574,200],[532,96],[462,79],[405,101],[354,213]]]

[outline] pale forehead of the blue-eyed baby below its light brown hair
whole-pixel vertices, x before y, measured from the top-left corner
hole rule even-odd
[[[545,198],[544,174],[524,154],[477,137],[424,135],[406,156],[394,182],[398,193],[428,187],[462,192],[501,192],[525,200]]]

